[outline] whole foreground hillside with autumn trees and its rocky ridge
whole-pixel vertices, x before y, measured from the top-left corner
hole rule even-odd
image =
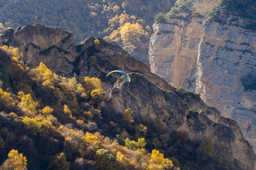
[[[24,36],[25,30],[36,33]],[[15,44],[20,36],[27,38]],[[256,156],[236,121],[199,94],[172,87],[117,44],[89,37],[76,46],[73,72],[58,65],[55,74],[51,58],[73,49],[72,33],[36,24],[0,38],[17,47],[0,47],[0,168],[22,153],[22,166],[37,170],[254,169]],[[46,64],[41,43],[18,52],[37,41],[59,49],[44,46]],[[27,65],[27,56],[39,65]],[[129,73],[131,82],[106,77],[114,69]]]

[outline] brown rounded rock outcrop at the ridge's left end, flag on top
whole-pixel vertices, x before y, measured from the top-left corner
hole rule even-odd
[[[76,43],[71,32],[60,27],[26,25],[4,31],[0,42],[2,45],[17,47],[30,67],[35,68],[43,62],[56,74],[72,75]]]

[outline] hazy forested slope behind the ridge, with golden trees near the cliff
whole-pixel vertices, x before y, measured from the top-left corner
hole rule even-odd
[[[154,16],[176,0],[5,0],[0,2],[0,34],[40,23],[60,26],[79,44],[88,36],[115,41],[133,56],[148,55]],[[35,18],[37,17],[37,18]]]

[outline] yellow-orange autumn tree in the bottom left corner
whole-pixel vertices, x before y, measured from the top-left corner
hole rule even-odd
[[[0,170],[25,170],[27,166],[27,159],[22,153],[17,150],[11,150],[6,159],[0,166]]]

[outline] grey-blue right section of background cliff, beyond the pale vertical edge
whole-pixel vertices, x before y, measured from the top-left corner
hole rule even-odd
[[[204,23],[196,91],[223,116],[238,121],[247,140],[256,147],[256,91],[243,86],[248,81],[245,77],[256,74],[256,32],[243,28],[249,20],[234,15],[219,19],[218,23]]]

